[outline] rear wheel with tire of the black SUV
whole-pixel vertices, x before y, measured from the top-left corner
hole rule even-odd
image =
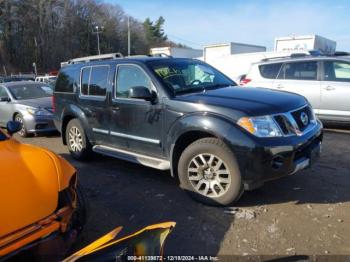
[[[73,158],[77,160],[90,158],[92,147],[78,119],[69,121],[65,135],[68,150]]]

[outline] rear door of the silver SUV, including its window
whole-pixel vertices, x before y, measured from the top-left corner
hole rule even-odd
[[[274,89],[293,92],[307,98],[318,113],[321,100],[321,83],[319,81],[320,63],[314,61],[286,62],[283,64]]]

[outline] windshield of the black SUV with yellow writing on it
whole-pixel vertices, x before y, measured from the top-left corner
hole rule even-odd
[[[148,62],[148,65],[174,94],[236,85],[218,70],[197,60],[157,60]]]

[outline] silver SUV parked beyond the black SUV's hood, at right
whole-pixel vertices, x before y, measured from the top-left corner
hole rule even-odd
[[[265,59],[240,82],[303,95],[327,122],[350,123],[350,57],[310,56]]]

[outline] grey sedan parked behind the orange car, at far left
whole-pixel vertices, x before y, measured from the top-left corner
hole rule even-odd
[[[19,135],[26,137],[51,132],[53,123],[52,88],[32,81],[0,84],[0,126],[10,120],[22,123]]]

